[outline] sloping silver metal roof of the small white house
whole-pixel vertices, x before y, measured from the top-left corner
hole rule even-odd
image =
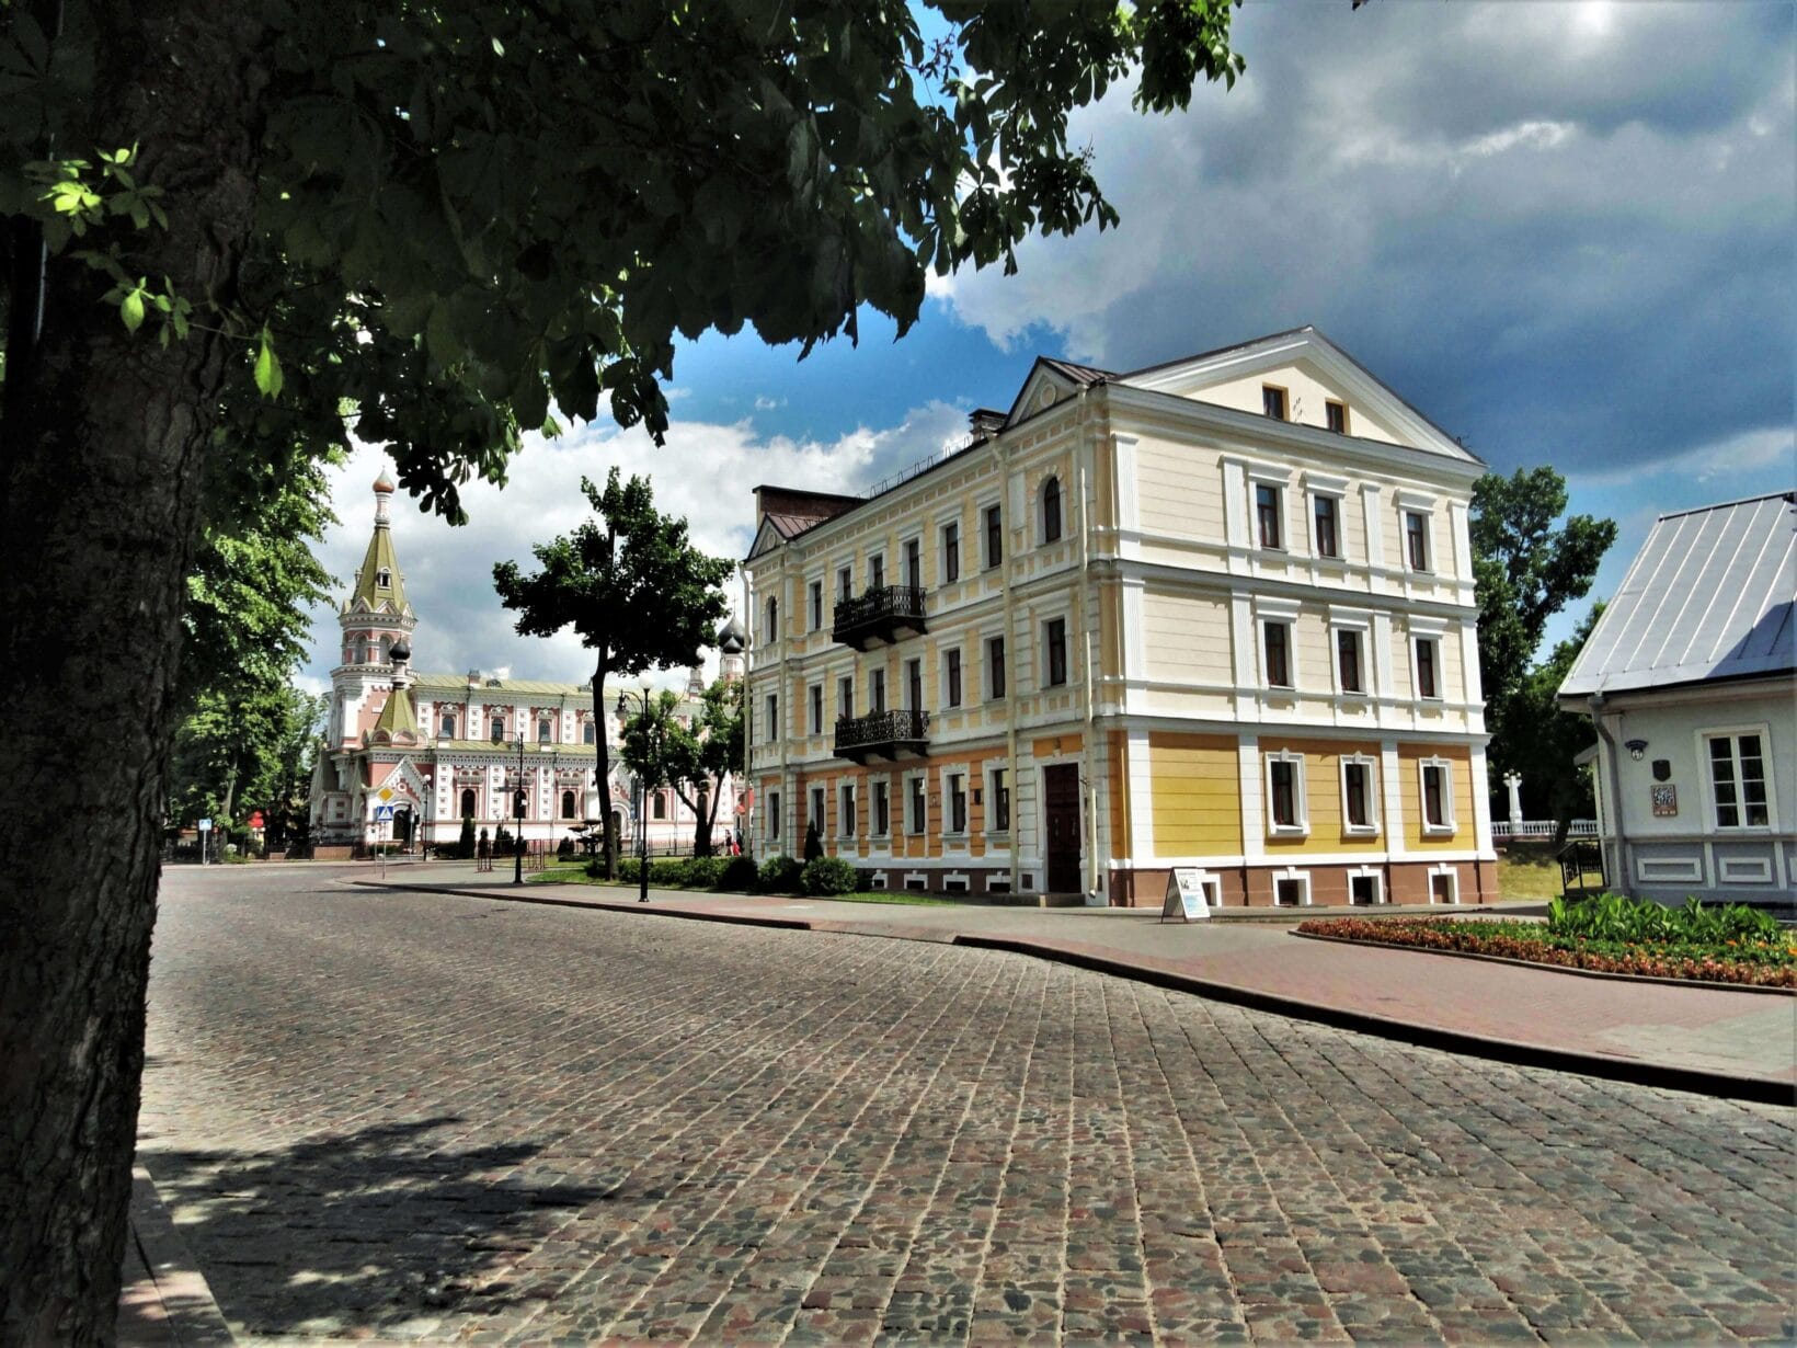
[[[1797,492],[1662,514],[1562,697],[1797,670]]]

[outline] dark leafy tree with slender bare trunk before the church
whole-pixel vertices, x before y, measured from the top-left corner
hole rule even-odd
[[[580,633],[593,652],[593,721],[606,724],[606,679],[649,669],[685,669],[699,661],[728,611],[722,584],[735,570],[730,557],[708,557],[686,539],[686,521],[656,510],[649,478],[618,482],[613,467],[600,491],[580,480],[597,521],[573,536],[532,548],[543,570],[521,575],[518,563],[492,568],[500,602],[518,609],[523,636]],[[611,780],[611,748],[595,735],[598,789]],[[618,874],[618,836],[609,809],[606,879]]]

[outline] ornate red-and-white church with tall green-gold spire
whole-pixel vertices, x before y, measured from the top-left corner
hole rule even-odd
[[[462,836],[464,818],[474,820],[476,832],[492,836],[503,825],[553,847],[600,823],[602,809],[613,812],[625,854],[643,834],[654,852],[690,850],[694,818],[672,789],[651,791],[638,811],[640,784],[618,757],[629,714],[618,712],[613,690],[600,724],[591,681],[413,670],[419,620],[394,550],[392,498],[394,482],[383,469],[374,483],[374,536],[338,609],[341,663],[331,670],[331,712],[311,787],[314,856],[347,857],[379,841],[449,845]],[[735,618],[717,640],[722,678],[742,678],[744,633]],[[695,667],[676,715],[697,715],[703,690]],[[611,746],[604,791],[595,782],[598,735]],[[514,818],[518,791],[523,820]],[[713,845],[739,823],[733,778],[722,793]]]

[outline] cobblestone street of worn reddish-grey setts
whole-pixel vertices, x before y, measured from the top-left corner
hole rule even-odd
[[[943,944],[174,872],[140,1131],[252,1335],[1797,1334],[1790,1109]]]

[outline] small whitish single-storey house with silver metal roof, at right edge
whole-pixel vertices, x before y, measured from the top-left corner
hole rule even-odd
[[[1598,728],[1614,890],[1790,900],[1797,886],[1797,492],[1655,521],[1560,685]]]

